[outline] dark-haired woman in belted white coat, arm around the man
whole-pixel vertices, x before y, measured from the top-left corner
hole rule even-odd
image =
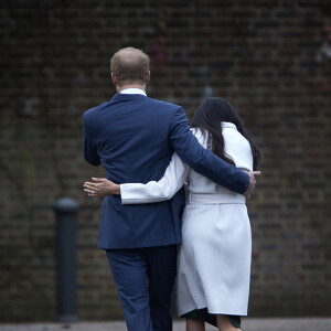
[[[195,110],[192,132],[205,148],[244,171],[256,170],[260,152],[232,105],[207,98]],[[117,185],[106,179],[86,182],[92,196],[116,194],[124,204],[169,200],[186,182],[188,201],[179,250],[177,306],[188,331],[238,330],[247,314],[252,234],[245,196],[190,169],[174,153],[161,180]],[[94,193],[94,194],[92,194]]]

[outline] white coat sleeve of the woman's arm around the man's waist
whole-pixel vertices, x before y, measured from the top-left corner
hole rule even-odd
[[[171,199],[183,185],[189,167],[173,153],[164,175],[159,181],[147,184],[120,184],[122,204],[152,203]]]

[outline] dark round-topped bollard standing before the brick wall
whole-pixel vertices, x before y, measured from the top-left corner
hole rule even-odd
[[[57,321],[76,322],[78,321],[76,284],[76,218],[78,203],[68,197],[58,199],[54,210],[57,233]]]

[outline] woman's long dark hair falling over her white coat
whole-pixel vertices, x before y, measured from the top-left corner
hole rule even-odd
[[[207,136],[207,147],[217,157],[235,166],[231,157],[224,151],[221,121],[235,124],[237,130],[248,140],[253,152],[253,169],[256,170],[261,157],[260,151],[245,130],[244,124],[234,107],[227,100],[218,97],[204,99],[196,108],[191,125],[193,128],[200,128],[203,135],[206,135],[206,131],[210,132]]]

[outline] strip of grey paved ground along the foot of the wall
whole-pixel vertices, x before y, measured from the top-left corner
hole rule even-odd
[[[0,324],[0,331],[126,331],[124,322],[78,322]],[[184,322],[175,322],[173,331],[184,331]],[[206,331],[215,331],[207,327]],[[139,331],[139,330],[137,330]],[[331,318],[308,319],[244,319],[243,331],[331,331]]]

